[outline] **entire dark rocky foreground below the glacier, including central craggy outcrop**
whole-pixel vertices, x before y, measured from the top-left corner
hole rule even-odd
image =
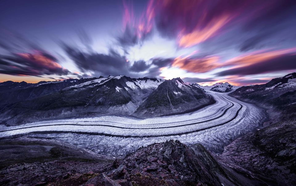
[[[5,143],[15,153],[2,153],[2,160],[12,161],[0,171],[0,185],[265,185],[252,173],[217,161],[202,145],[189,147],[178,140],[151,144],[116,160],[52,140]],[[27,150],[39,146],[41,151],[34,155],[25,149],[22,156],[12,158],[25,146]],[[31,163],[34,158],[38,162]],[[17,161],[23,163],[13,164]]]

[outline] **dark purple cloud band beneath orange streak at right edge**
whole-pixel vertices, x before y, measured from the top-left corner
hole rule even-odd
[[[254,63],[245,67],[238,67],[217,73],[218,76],[226,75],[254,75],[275,71],[296,69],[296,55],[287,54],[277,58]]]

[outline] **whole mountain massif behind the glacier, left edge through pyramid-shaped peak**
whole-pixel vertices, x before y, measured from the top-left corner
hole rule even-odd
[[[106,114],[133,113],[146,118],[214,103],[202,89],[185,84],[181,79],[165,81],[126,76],[36,84],[4,82],[0,84],[0,95],[3,100],[0,104],[0,123],[7,126],[44,119]]]

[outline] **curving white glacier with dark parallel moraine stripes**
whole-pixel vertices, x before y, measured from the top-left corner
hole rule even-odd
[[[106,115],[71,118],[2,127],[0,137],[54,138],[94,152],[123,156],[141,146],[169,139],[186,144],[201,143],[212,152],[237,137],[256,130],[266,118],[265,111],[225,93],[208,91],[216,103],[198,111],[149,119]]]

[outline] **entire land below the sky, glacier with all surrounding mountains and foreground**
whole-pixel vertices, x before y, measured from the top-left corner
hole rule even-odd
[[[4,82],[2,95],[16,89],[18,97],[35,96],[1,106],[0,161],[8,167],[0,181],[31,175],[33,185],[293,185],[295,78],[244,87],[125,76]],[[37,95],[40,86],[51,92]],[[34,176],[37,170],[50,177]]]

